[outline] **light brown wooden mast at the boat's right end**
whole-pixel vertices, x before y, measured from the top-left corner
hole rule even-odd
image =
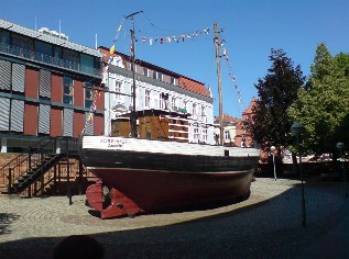
[[[223,109],[222,109],[222,90],[221,90],[221,78],[220,78],[220,42],[217,23],[214,23],[215,31],[215,46],[216,46],[216,63],[217,63],[217,77],[218,77],[218,102],[219,102],[219,130],[220,130],[220,145],[223,145]]]

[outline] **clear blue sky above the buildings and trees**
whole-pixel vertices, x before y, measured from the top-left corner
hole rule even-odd
[[[137,11],[137,57],[187,76],[210,87],[217,100],[217,74],[212,30],[184,43],[150,45],[144,37],[167,37],[212,27],[225,27],[229,65],[221,60],[223,111],[241,116],[257,97],[254,83],[271,64],[271,48],[282,48],[307,76],[317,44],[330,53],[349,53],[349,0],[0,0],[0,18],[26,27],[59,30],[69,40],[95,47],[110,47],[124,15]],[[126,21],[116,48],[129,54],[131,22]],[[229,71],[236,76],[232,82]],[[241,101],[236,90],[240,90]],[[218,103],[215,101],[215,114]]]

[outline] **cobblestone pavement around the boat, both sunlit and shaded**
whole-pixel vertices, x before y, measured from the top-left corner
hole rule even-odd
[[[83,195],[72,205],[64,196],[0,195],[0,257],[52,258],[64,237],[87,234],[106,258],[309,258],[306,248],[348,218],[349,206],[341,182],[307,181],[305,198],[307,227],[297,180],[258,178],[247,201],[218,209],[105,221]]]

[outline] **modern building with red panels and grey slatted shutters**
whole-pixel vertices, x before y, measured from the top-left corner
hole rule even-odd
[[[1,153],[43,136],[103,133],[102,54],[65,34],[0,20]],[[94,111],[94,123],[89,123]]]

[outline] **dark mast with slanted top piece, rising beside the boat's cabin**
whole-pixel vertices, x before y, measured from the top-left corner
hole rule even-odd
[[[137,113],[135,113],[135,52],[134,52],[134,15],[143,11],[138,11],[126,16],[126,19],[132,20],[132,30],[131,30],[131,55],[132,55],[132,111],[131,111],[131,137],[137,137]]]

